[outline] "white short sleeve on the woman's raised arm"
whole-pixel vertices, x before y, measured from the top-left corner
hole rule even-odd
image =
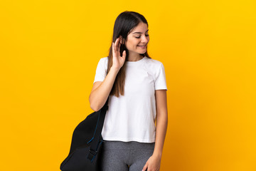
[[[97,64],[95,80],[93,81],[93,83],[95,83],[96,81],[104,81],[106,76],[107,76],[107,57],[100,58],[100,61]]]

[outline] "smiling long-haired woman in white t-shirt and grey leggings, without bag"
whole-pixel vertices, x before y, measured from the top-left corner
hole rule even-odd
[[[163,64],[147,53],[148,32],[144,16],[122,12],[114,22],[109,56],[97,65],[92,110],[100,110],[110,95],[102,128],[103,171],[160,169],[167,87]]]

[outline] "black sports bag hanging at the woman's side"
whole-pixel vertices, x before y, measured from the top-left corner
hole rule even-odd
[[[100,171],[102,127],[108,109],[105,105],[82,120],[73,132],[70,152],[60,165],[62,171]]]

